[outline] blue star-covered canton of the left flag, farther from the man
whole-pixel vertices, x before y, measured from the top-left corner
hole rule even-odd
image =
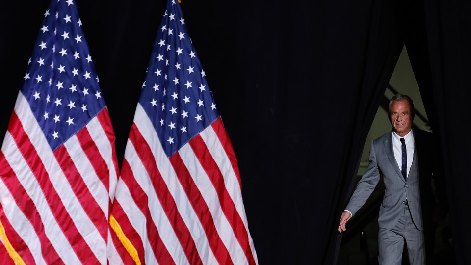
[[[73,0],[51,1],[21,92],[55,150],[105,107]]]

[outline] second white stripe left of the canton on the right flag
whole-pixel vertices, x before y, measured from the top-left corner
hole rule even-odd
[[[149,190],[152,187],[149,174],[142,164],[142,161],[139,159],[134,145],[132,145],[130,140],[128,140],[126,145],[124,158],[128,161],[136,182],[148,196],[148,207],[152,220],[147,221],[152,221],[156,225],[160,239],[167,248],[170,256],[172,256],[174,262],[179,265],[189,264],[183,248],[180,245],[177,236],[173,232],[172,225],[168,221],[167,215],[163,211],[162,205],[158,200],[156,191],[154,189]],[[148,261],[146,260],[146,263],[147,262]]]

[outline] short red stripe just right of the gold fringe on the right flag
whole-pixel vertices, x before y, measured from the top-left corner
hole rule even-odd
[[[137,255],[139,256],[141,263],[145,264],[144,245],[142,244],[142,239],[139,236],[139,233],[137,233],[137,231],[131,225],[128,215],[126,215],[126,212],[123,211],[123,208],[121,208],[118,200],[115,200],[113,203],[113,216],[121,226],[123,233],[137,250]]]

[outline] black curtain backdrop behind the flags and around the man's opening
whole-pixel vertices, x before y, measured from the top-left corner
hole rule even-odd
[[[0,134],[49,0],[1,4]],[[123,158],[165,1],[79,0]],[[471,6],[461,0],[183,0],[242,178],[260,264],[333,264],[340,213],[404,45],[441,136],[456,256],[471,264]]]

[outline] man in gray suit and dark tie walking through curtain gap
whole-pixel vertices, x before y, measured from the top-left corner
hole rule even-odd
[[[339,232],[365,204],[381,177],[385,186],[379,210],[379,263],[401,265],[404,242],[412,265],[432,263],[434,221],[443,215],[436,208],[431,179],[437,191],[444,188],[441,164],[432,134],[412,129],[414,104],[406,95],[396,95],[389,103],[392,132],[371,143],[369,165],[357,184],[345,211]],[[439,185],[440,183],[440,185]],[[440,186],[440,187],[439,187]],[[440,204],[442,205],[442,204]]]

